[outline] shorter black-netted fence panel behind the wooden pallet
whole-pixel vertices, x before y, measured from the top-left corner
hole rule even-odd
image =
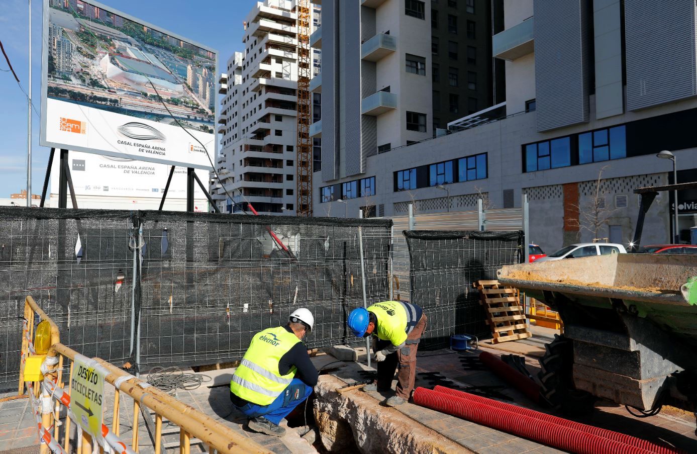
[[[495,280],[505,264],[521,262],[523,232],[405,231],[411,263],[411,302],[429,328],[424,348],[447,347],[453,334],[490,335],[477,280]]]

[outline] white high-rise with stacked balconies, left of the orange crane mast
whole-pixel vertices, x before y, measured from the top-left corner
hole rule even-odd
[[[294,0],[256,2],[245,20],[245,48],[229,58],[220,77],[222,148],[216,170],[222,185],[213,176],[211,192],[222,212],[246,209],[250,202],[259,213],[295,214],[295,8]]]

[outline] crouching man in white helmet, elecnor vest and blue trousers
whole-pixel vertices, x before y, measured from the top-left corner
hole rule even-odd
[[[250,430],[283,437],[279,423],[312,393],[319,374],[301,340],[313,324],[312,312],[300,308],[286,326],[252,338],[230,381],[230,400],[249,418]]]

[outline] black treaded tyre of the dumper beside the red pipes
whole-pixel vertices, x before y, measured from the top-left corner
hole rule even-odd
[[[574,349],[572,341],[560,335],[544,346],[546,351],[539,359],[541,370],[539,395],[550,407],[565,414],[588,414],[593,409],[592,394],[574,388],[572,369]]]

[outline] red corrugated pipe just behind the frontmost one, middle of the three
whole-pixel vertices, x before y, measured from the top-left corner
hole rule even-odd
[[[465,393],[463,391],[457,391],[457,389],[450,389],[446,388],[445,386],[437,385],[434,388],[434,391],[438,393],[450,394],[454,397],[461,399],[473,400],[474,402],[479,402],[480,404],[490,405],[491,407],[512,411],[514,413],[523,414],[525,416],[530,416],[530,418],[537,418],[541,421],[547,421],[548,423],[554,423],[558,425],[563,425],[565,427],[571,427],[572,429],[580,430],[581,432],[588,432],[589,434],[594,434],[598,437],[604,437],[607,439],[620,441],[622,443],[628,444],[629,446],[636,446],[637,448],[642,448],[646,451],[651,451],[652,453],[684,454],[684,451],[680,449],[671,448],[669,446],[661,446],[658,444],[654,444],[651,441],[632,437],[631,435],[620,434],[619,432],[613,432],[612,430],[603,429],[602,427],[595,427],[588,424],[576,423],[576,421],[569,421],[568,419],[559,418],[551,414],[546,414],[540,411],[519,407],[513,404],[507,404],[506,402],[499,402],[498,400],[482,398],[482,396]]]

